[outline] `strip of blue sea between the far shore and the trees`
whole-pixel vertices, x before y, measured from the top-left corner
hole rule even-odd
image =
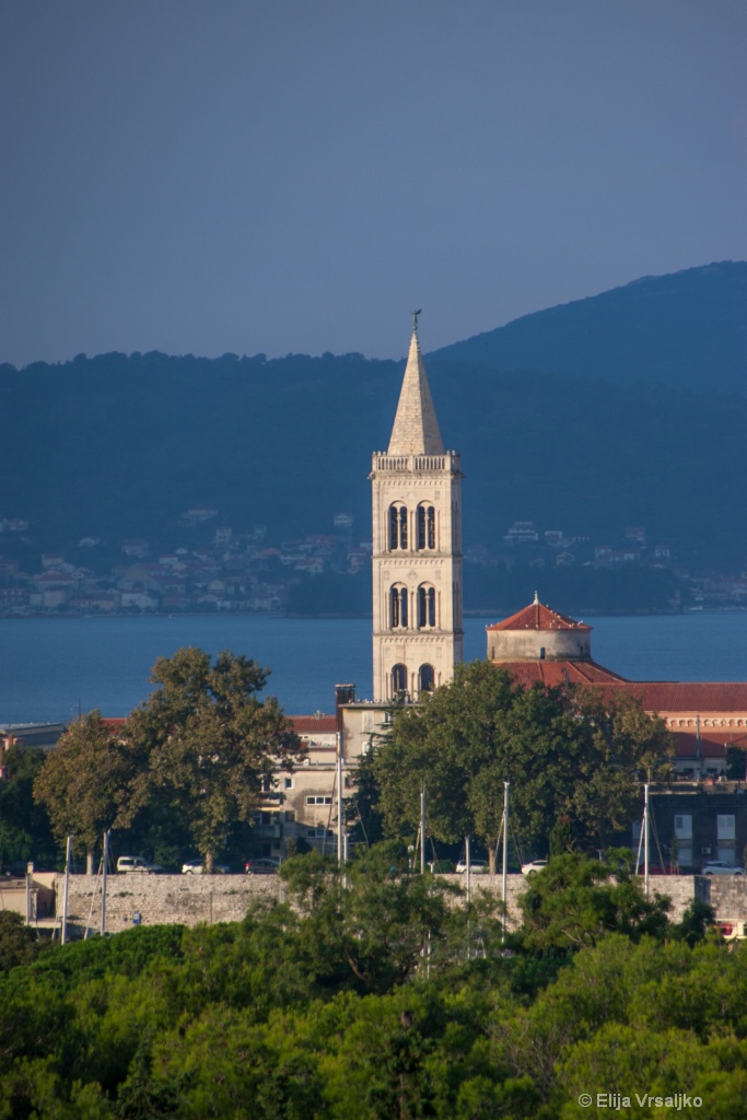
[[[465,620],[465,655],[485,656],[485,626]],[[747,680],[747,613],[592,618],[596,661],[634,680]],[[284,710],[330,712],[336,683],[371,696],[371,620],[258,615],[0,619],[0,724],[67,721],[100,708],[127,716],[159,656],[232,650],[272,670]]]

